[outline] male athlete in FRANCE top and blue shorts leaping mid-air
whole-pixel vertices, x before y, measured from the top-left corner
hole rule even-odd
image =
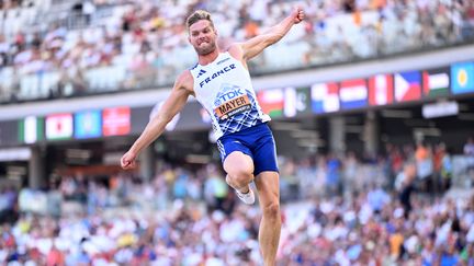
[[[260,251],[266,266],[275,265],[280,241],[280,192],[273,136],[267,126],[270,117],[262,113],[252,88],[247,60],[279,42],[290,28],[304,19],[296,8],[286,19],[245,43],[233,44],[227,51],[217,47],[217,31],[206,11],[195,11],[187,20],[189,42],[199,62],[183,71],[160,112],[122,157],[122,167],[135,167],[138,153],[160,136],[178,114],[189,95],[193,95],[212,117],[226,182],[248,205],[255,203],[250,183],[255,181],[262,220],[259,230]]]

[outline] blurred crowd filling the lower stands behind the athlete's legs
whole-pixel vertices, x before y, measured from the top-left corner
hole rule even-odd
[[[474,197],[445,195],[451,154],[443,144],[386,150],[280,158],[279,265],[474,265]],[[441,165],[426,170],[428,159]],[[1,193],[2,206],[22,211],[1,225],[0,262],[260,265],[260,210],[241,205],[214,164],[160,163],[150,182],[64,176],[50,188]]]

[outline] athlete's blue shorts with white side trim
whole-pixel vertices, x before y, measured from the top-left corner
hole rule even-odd
[[[253,175],[263,171],[279,172],[273,135],[267,124],[259,124],[217,140],[221,160],[234,151],[240,151],[253,160]]]

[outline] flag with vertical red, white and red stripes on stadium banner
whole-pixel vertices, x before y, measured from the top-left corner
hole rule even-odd
[[[369,104],[386,105],[393,103],[393,76],[376,74],[369,79]]]

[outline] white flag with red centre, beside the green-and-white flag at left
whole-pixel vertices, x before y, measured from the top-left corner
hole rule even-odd
[[[72,137],[72,115],[57,114],[46,117],[46,139],[59,140]]]

